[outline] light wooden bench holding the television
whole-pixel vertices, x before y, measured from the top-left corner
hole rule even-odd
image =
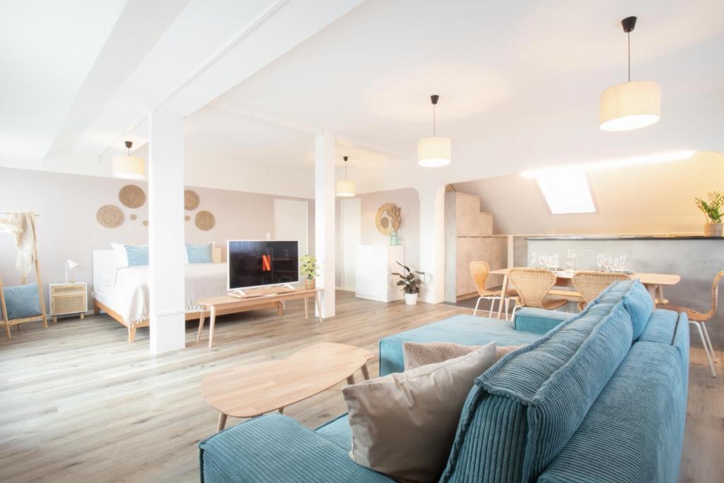
[[[216,315],[235,314],[257,308],[277,307],[279,315],[284,311],[283,303],[304,299],[304,318],[309,318],[309,299],[313,298],[317,311],[319,311],[319,322],[321,319],[321,303],[319,301],[319,289],[308,290],[299,288],[288,290],[282,293],[271,293],[267,295],[250,296],[244,298],[232,297],[231,295],[221,295],[219,297],[203,298],[198,301],[201,311],[198,316],[198,335],[196,340],[201,340],[201,332],[203,332],[203,322],[206,312],[209,312],[209,348],[214,345],[214,325],[216,324]]]

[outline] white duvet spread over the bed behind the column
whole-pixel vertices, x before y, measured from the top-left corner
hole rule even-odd
[[[226,264],[187,264],[185,266],[185,309],[200,309],[196,301],[227,293]],[[148,319],[148,266],[115,269],[103,280],[101,291],[111,295],[113,307],[126,322],[138,324]]]

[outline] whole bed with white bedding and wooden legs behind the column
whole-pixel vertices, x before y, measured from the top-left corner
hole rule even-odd
[[[213,248],[212,259],[212,264],[185,265],[186,320],[201,315],[196,301],[227,294],[227,265],[221,263],[220,247]],[[94,250],[93,310],[96,314],[104,311],[125,326],[128,342],[132,343],[136,329],[149,324],[148,266],[119,268],[113,250]]]

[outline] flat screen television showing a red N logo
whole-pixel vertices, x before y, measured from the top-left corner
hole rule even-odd
[[[299,282],[299,244],[279,240],[228,240],[228,289]]]

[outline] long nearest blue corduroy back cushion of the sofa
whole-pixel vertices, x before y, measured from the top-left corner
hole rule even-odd
[[[621,292],[476,379],[442,482],[529,482],[571,438],[631,348]]]

